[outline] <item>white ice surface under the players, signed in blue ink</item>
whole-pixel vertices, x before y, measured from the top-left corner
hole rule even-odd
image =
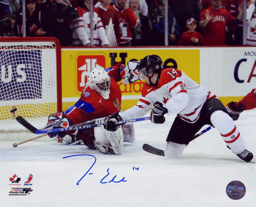
[[[256,206],[256,164],[234,155],[216,129],[192,141],[180,159],[168,160],[142,150],[144,143],[163,149],[173,120],[174,116],[166,116],[164,124],[135,123],[136,142],[125,143],[120,156],[47,137],[16,148],[13,143],[28,137],[0,141],[0,206]],[[256,156],[256,109],[243,112],[235,123],[246,149]],[[23,186],[30,173],[32,186]],[[13,175],[21,178],[20,186],[10,185]],[[230,181],[245,185],[243,198],[227,196]],[[9,196],[11,188],[18,187],[33,191],[27,196]]]

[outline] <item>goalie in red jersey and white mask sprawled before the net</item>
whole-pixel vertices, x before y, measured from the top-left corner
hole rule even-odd
[[[44,129],[56,129],[84,122],[99,124],[113,113],[118,116],[118,112],[121,111],[122,95],[117,82],[123,79],[122,83],[127,84],[139,80],[136,73],[137,64],[138,62],[128,62],[128,65],[123,65],[119,62],[105,70],[97,67],[92,69],[79,100],[65,112],[50,115]],[[122,154],[124,141],[135,141],[133,124],[118,126],[115,132],[109,132],[102,126],[48,135],[51,138],[58,135],[61,141],[67,144],[82,141],[92,150],[98,149],[102,153],[115,155]]]

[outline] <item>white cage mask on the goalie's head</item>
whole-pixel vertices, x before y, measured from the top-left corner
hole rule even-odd
[[[88,85],[91,89],[101,95],[104,99],[109,98],[110,77],[108,73],[101,68],[93,68],[88,77]]]

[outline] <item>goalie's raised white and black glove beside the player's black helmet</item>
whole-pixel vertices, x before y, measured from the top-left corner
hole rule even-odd
[[[137,66],[140,62],[128,62],[128,65],[121,65],[119,72],[120,76],[123,79],[122,84],[134,83],[137,80],[140,80],[137,74]]]

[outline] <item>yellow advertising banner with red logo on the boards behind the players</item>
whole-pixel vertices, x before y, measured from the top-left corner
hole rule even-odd
[[[182,70],[197,83],[200,81],[200,49],[192,48],[114,48],[61,49],[63,109],[75,103],[87,82],[87,76],[94,67],[107,68],[121,61],[140,60],[146,55],[159,55],[163,67]],[[143,81],[122,85],[122,109],[137,103]],[[129,101],[133,100],[133,101]]]

